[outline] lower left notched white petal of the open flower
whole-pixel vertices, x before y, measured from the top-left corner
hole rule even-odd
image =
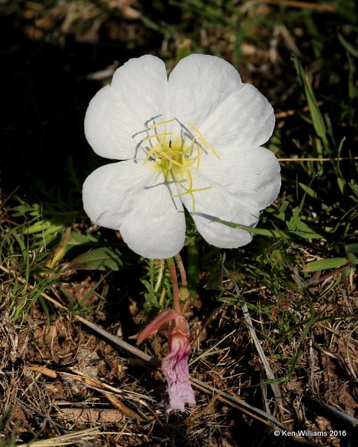
[[[185,217],[174,187],[150,163],[122,161],[96,169],[83,184],[83,206],[98,225],[120,230],[124,242],[147,258],[169,258],[185,242]]]

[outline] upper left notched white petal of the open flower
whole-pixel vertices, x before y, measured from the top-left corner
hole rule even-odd
[[[85,135],[96,154],[134,159],[138,141],[146,135],[141,133],[145,123],[150,125],[159,116],[166,119],[168,111],[164,62],[150,55],[130,59],[115,71],[110,87],[103,87],[90,101]]]

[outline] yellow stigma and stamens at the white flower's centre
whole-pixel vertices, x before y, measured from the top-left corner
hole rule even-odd
[[[188,123],[192,130],[180,124],[180,133],[166,131],[166,124],[176,122],[177,119],[169,119],[167,121],[157,122],[150,126],[149,130],[154,131],[141,141],[142,147],[145,147],[147,156],[143,164],[150,161],[153,168],[161,170],[166,182],[176,182],[181,188],[182,193],[172,196],[172,198],[190,194],[193,202],[192,214],[195,212],[194,192],[210,189],[212,186],[205,188],[193,189],[192,171],[199,172],[202,152],[212,152],[217,159],[217,154],[213,146],[211,146],[203,137],[199,129],[193,124]],[[164,132],[157,132],[159,126],[164,126]],[[192,132],[194,131],[194,133]],[[198,135],[196,137],[196,135]],[[145,144],[146,143],[146,144]]]

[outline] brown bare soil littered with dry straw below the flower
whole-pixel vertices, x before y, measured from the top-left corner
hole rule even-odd
[[[357,313],[357,280],[348,277],[333,294],[320,300],[332,281],[334,274],[322,282],[317,277],[317,284],[309,286],[317,298],[313,306],[322,316],[320,321],[313,323],[306,335],[304,325],[298,325],[281,339],[278,321],[282,312],[297,312],[301,321],[308,314],[308,308],[298,304],[303,289],[291,292],[284,303],[275,302],[270,291],[244,293],[248,303],[255,302],[256,309],[259,302],[269,303],[269,327],[267,321],[261,324],[264,319],[260,321],[259,312],[250,313],[275,377],[286,377],[279,386],[281,408],[271,386],[264,383],[266,372],[248,336],[241,308],[218,303],[217,292],[202,291],[187,315],[193,339],[191,374],[215,392],[208,393],[194,384],[196,406],[169,416],[159,403],[165,390],[162,375],[148,362],[115,348],[55,307],[50,325],[41,306],[35,305],[27,321],[15,326],[3,305],[3,434],[13,434],[17,444],[68,434],[71,445],[76,446],[294,445],[291,437],[273,436],[271,415],[287,430],[310,430],[306,440],[297,441],[297,445],[313,441],[322,446],[355,446],[358,337],[357,323],[349,315]],[[90,277],[79,280],[74,275],[62,288],[79,299],[93,284]],[[232,284],[226,281],[224,295],[231,295],[231,291]],[[55,293],[57,299],[63,298],[59,291],[52,295]],[[103,300],[87,317],[135,344],[142,320],[134,298],[128,295],[118,303],[117,315],[108,314],[113,302]],[[93,296],[86,304],[98,304],[98,300]],[[340,314],[347,318],[335,318]],[[152,337],[144,349],[162,358],[166,354],[165,336]],[[296,365],[288,376],[295,356]],[[220,391],[236,400],[225,400]],[[262,409],[267,417],[242,408],[240,399]],[[41,445],[61,445],[61,441]]]

